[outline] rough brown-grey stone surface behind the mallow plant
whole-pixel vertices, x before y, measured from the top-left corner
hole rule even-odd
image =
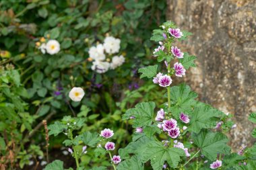
[[[197,68],[187,71],[186,81],[200,101],[234,114],[231,130],[234,151],[255,142],[256,112],[256,1],[168,0],[167,18],[193,32],[189,41],[177,44],[198,57]]]

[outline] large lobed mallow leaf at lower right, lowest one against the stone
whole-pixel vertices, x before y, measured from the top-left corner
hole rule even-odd
[[[219,153],[229,154],[230,147],[226,144],[228,138],[221,132],[201,131],[192,134],[194,144],[201,149],[201,153],[210,160],[216,160]]]

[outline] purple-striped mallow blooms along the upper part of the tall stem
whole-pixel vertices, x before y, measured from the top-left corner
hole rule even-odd
[[[168,32],[170,33],[170,36],[173,36],[174,38],[181,38],[183,36],[183,33],[179,29],[172,29],[169,28]],[[164,38],[166,39],[166,34],[163,34]],[[154,56],[158,56],[156,54],[160,50],[164,50],[164,44],[162,42],[159,42],[160,46],[156,48],[153,52]],[[176,56],[177,58],[183,58],[184,53],[181,52],[181,50],[177,46],[171,47],[171,52],[173,56]],[[166,67],[168,67],[167,62]],[[185,75],[186,69],[183,67],[183,65],[179,62],[174,63],[173,70],[175,71],[175,75],[177,77],[183,77]],[[170,78],[170,75],[163,75],[162,73],[158,73],[156,77],[153,79],[153,83],[159,84],[161,87],[168,87],[172,83],[172,79]]]

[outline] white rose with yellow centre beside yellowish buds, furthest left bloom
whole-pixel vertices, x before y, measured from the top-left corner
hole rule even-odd
[[[47,35],[47,37],[50,37]],[[36,42],[36,47],[41,50],[42,54],[46,52],[48,54],[57,54],[61,50],[61,45],[57,40],[46,40],[44,37],[40,38],[39,42]]]

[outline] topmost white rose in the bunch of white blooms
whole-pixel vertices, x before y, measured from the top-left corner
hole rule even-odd
[[[106,37],[103,44],[106,50],[106,53],[114,54],[119,52],[120,42],[121,42],[120,39],[114,38],[113,36]]]

